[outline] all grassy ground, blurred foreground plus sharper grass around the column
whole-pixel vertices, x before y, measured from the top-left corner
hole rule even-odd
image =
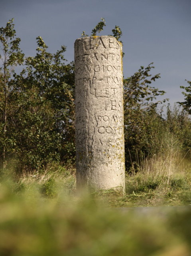
[[[10,170],[9,170],[10,171]],[[190,256],[191,208],[165,218],[120,207],[191,204],[190,162],[144,160],[126,194],[75,192],[75,170],[52,165],[0,182],[2,256]]]

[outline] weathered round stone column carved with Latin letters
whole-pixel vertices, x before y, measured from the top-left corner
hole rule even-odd
[[[125,190],[122,45],[75,41],[77,188]]]

